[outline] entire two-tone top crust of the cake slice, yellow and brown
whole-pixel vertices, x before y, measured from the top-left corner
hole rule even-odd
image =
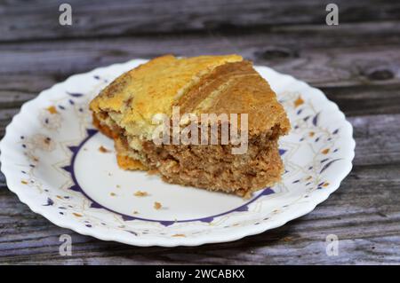
[[[236,63],[236,64],[235,64]],[[108,85],[91,103],[128,134],[150,139],[154,114],[249,114],[250,134],[279,124],[289,129],[284,108],[268,83],[239,55],[178,59],[165,55],[148,61]]]

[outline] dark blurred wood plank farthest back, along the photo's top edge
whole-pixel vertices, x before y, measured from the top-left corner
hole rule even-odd
[[[73,25],[59,24],[65,1],[0,4],[0,41],[197,32],[243,33],[276,25],[325,25],[329,1],[112,1],[69,0]],[[337,0],[340,23],[400,19],[400,4],[384,0]]]

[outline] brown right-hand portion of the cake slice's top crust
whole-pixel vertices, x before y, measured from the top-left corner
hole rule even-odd
[[[175,103],[181,113],[248,114],[249,134],[256,135],[279,125],[290,129],[284,107],[250,61],[216,67]]]

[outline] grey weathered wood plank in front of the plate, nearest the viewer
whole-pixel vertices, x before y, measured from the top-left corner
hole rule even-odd
[[[396,166],[356,166],[308,216],[244,240],[195,248],[134,248],[85,237],[36,216],[2,189],[0,263],[400,263],[399,185]],[[73,239],[70,257],[58,254],[63,233]],[[325,255],[328,234],[339,237],[338,256]]]

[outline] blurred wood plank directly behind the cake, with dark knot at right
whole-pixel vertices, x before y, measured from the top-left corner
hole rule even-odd
[[[339,33],[337,38],[324,29],[322,34],[328,36],[293,32],[7,43],[0,45],[0,75],[63,78],[94,67],[168,52],[183,56],[237,52],[256,64],[275,67],[316,86],[400,83],[400,34],[390,37],[392,43],[384,45],[370,41],[367,34],[356,36],[355,44],[361,41],[370,45],[365,49],[351,44],[336,47],[334,42],[343,35]]]

